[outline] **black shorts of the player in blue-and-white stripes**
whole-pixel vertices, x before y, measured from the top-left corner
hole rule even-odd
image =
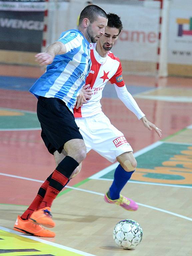
[[[61,153],[64,144],[71,139],[83,139],[73,113],[59,98],[40,96],[37,117],[41,124],[41,137],[51,154],[56,150]]]

